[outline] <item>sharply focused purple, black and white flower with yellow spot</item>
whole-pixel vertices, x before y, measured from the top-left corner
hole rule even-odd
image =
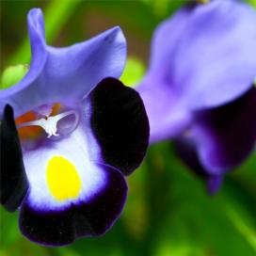
[[[120,27],[65,48],[46,45],[40,9],[28,14],[31,67],[0,92],[1,203],[45,246],[106,232],[120,216],[124,175],[141,163],[149,123],[119,77]],[[18,131],[17,131],[18,128]]]

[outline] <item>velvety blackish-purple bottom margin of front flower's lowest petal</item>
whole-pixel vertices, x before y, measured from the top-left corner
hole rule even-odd
[[[61,210],[39,210],[25,200],[20,212],[24,235],[44,246],[64,246],[75,238],[106,232],[120,216],[126,200],[127,185],[119,171],[98,165],[106,174],[104,188],[85,202]]]

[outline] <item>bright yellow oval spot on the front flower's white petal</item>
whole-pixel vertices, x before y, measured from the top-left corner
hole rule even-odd
[[[49,162],[46,179],[56,200],[72,200],[79,196],[81,179],[72,163],[62,156],[54,156]]]

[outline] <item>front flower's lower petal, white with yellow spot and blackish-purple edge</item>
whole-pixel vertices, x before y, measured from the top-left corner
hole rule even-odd
[[[89,127],[79,125],[56,139],[24,152],[30,189],[20,227],[27,238],[46,246],[106,232],[120,216],[127,193],[119,170],[91,161],[98,148]]]

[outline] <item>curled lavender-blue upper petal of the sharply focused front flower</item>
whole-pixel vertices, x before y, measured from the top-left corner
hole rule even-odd
[[[120,77],[126,60],[126,41],[120,27],[91,40],[55,48],[45,43],[40,9],[32,9],[28,29],[33,54],[31,69],[18,85],[1,91],[0,110],[9,103],[15,115],[20,116],[42,104],[72,104],[105,76]]]

